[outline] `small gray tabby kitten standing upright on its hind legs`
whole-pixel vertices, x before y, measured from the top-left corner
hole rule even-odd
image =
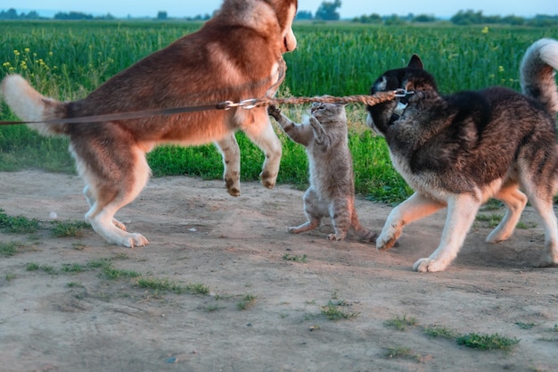
[[[275,106],[267,109],[287,136],[306,147],[310,187],[304,194],[304,212],[308,218],[289,232],[299,234],[320,225],[330,217],[335,234],[329,240],[343,240],[350,230],[358,239],[372,242],[376,235],[362,227],[355,209],[353,159],[347,138],[347,115],[344,104],[312,103],[311,116],[301,124],[285,117]]]

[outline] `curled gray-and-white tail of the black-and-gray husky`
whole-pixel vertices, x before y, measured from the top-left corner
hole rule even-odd
[[[553,118],[558,112],[554,70],[558,70],[558,41],[541,38],[530,45],[521,61],[521,90],[543,103]]]

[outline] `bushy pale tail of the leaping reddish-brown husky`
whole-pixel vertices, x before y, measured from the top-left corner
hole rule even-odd
[[[66,104],[41,95],[20,75],[8,75],[0,84],[0,92],[12,112],[23,121],[41,121],[66,117]],[[68,124],[38,123],[29,125],[44,136],[66,133]]]

